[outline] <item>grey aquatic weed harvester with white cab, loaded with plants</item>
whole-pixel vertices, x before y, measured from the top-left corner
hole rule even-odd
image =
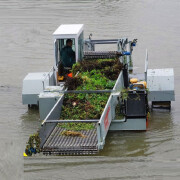
[[[39,106],[41,127],[30,136],[27,155],[96,154],[109,131],[145,131],[148,102],[152,108],[171,107],[173,69],[148,69],[133,74],[132,51],[137,39],[84,40],[83,24],[63,24],[53,33],[55,63],[49,72],[29,73],[23,80],[22,101]],[[60,76],[61,50],[72,41],[76,63]],[[115,44],[116,51],[96,51]],[[138,78],[137,78],[138,77]]]

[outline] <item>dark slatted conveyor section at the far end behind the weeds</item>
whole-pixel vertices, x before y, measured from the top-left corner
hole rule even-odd
[[[111,59],[120,55],[117,51],[85,51],[84,59]]]

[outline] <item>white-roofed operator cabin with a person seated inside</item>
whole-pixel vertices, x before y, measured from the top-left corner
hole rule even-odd
[[[83,59],[83,30],[83,24],[63,24],[53,33],[59,80],[63,80],[74,63]]]

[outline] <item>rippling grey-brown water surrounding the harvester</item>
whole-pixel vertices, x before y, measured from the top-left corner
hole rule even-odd
[[[0,0],[0,179],[180,179],[179,10],[179,0]],[[147,132],[109,133],[98,156],[23,159],[40,120],[22,105],[22,80],[51,68],[52,33],[63,23],[85,24],[94,39],[137,38],[136,72],[147,48],[150,68],[174,68],[176,101],[151,113]]]

